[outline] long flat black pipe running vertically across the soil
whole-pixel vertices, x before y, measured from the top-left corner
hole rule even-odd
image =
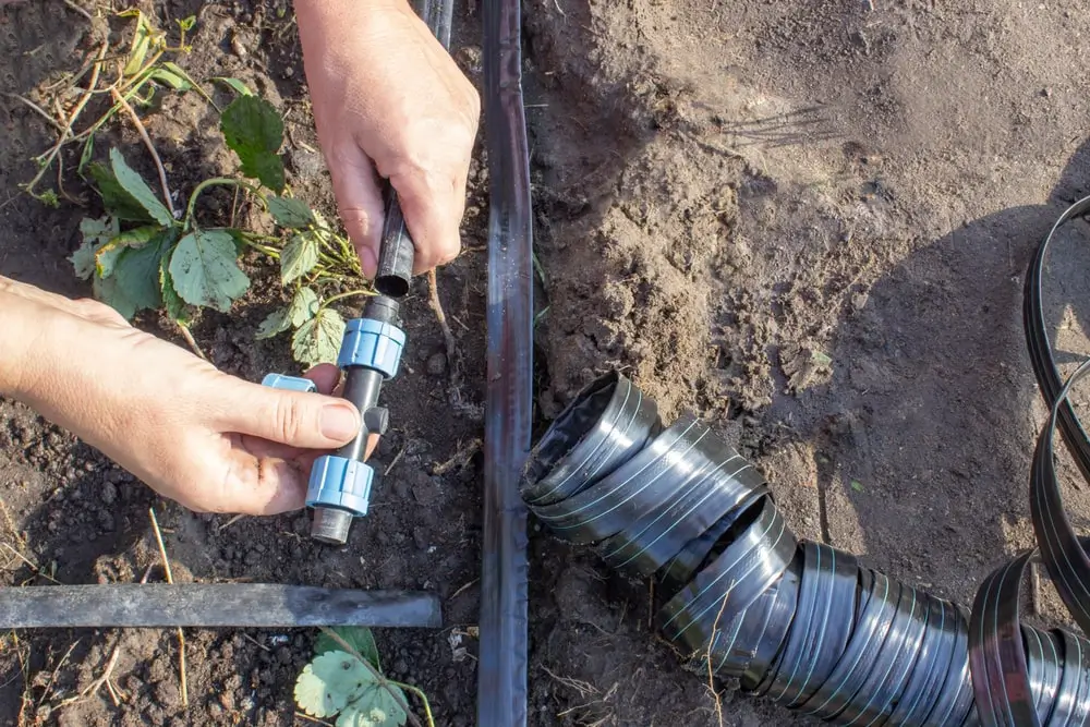
[[[530,152],[522,105],[519,0],[484,0],[489,165],[488,355],[477,727],[526,724],[526,508],[533,278]]]

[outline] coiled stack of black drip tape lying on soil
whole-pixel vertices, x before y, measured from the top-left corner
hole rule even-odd
[[[664,425],[618,373],[553,423],[521,494],[554,535],[656,579],[662,635],[743,692],[839,725],[1090,724],[1090,642],[1017,620],[1028,557],[984,583],[970,616],[800,541],[750,462],[693,416]]]

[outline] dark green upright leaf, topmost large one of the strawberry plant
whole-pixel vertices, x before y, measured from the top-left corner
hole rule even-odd
[[[283,119],[276,107],[256,96],[239,96],[223,110],[219,126],[242,161],[242,173],[280,192],[284,174],[277,152],[283,144]]]

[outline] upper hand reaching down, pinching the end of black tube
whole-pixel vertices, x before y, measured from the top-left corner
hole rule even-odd
[[[461,251],[459,225],[481,101],[405,0],[296,0],[318,141],[349,238],[375,275],[379,178],[416,247],[414,272]]]

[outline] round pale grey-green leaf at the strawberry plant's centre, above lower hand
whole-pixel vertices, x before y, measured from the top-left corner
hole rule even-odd
[[[183,301],[221,313],[250,289],[235,259],[234,240],[219,230],[196,230],[182,238],[170,256],[169,271]]]

